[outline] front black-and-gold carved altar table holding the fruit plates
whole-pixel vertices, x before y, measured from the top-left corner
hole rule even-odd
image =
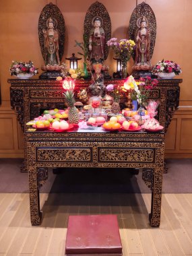
[[[26,131],[25,158],[29,174],[30,216],[39,225],[39,189],[48,179],[48,168],[142,168],[142,178],[152,191],[150,225],[160,225],[164,133],[104,132],[94,130],[55,133]]]

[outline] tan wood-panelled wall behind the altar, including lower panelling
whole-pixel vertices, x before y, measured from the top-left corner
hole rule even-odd
[[[141,3],[143,0],[138,0]],[[136,1],[121,0],[119,4],[115,0],[100,0],[108,10],[112,24],[112,36],[118,39],[127,38],[128,26],[131,13],[135,8]],[[38,42],[38,18],[42,8],[49,3],[47,0],[20,0],[13,4],[12,0],[0,1],[0,84],[2,104],[0,106],[0,158],[1,157],[23,157],[23,133],[20,125],[10,106],[9,66],[12,60],[34,61],[38,71],[43,64],[40,46]],[[65,18],[66,38],[65,50],[62,61],[70,57],[71,53],[79,49],[74,47],[75,40],[81,42],[84,29],[84,18],[86,11],[93,0],[71,1],[55,0],[63,17]],[[161,59],[172,59],[179,63],[183,73],[181,84],[180,105],[166,135],[167,157],[192,157],[192,35],[189,26],[192,23],[192,1],[191,0],[148,0],[152,7],[157,22],[156,45],[152,64]],[[162,13],[164,13],[162,15]],[[177,15],[175,15],[177,13]],[[116,63],[113,60],[113,51],[110,51],[106,65],[109,65],[109,73],[113,74]],[[66,61],[65,61],[66,62]],[[82,65],[83,60],[79,61]],[[67,63],[67,62],[66,62]],[[68,65],[69,63],[67,63]],[[128,72],[131,73],[133,60],[128,63]],[[36,76],[38,77],[38,76]],[[9,129],[6,129],[8,127]]]

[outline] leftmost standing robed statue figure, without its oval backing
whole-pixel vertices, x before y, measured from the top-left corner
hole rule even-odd
[[[47,30],[42,30],[44,35],[44,62],[45,65],[60,65],[59,60],[59,32],[56,29],[57,21],[49,18],[46,21]]]

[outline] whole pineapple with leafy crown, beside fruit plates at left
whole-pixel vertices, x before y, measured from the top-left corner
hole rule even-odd
[[[72,90],[68,90],[63,93],[67,105],[69,106],[69,123],[79,123],[79,113],[77,108],[74,106],[75,98]]]

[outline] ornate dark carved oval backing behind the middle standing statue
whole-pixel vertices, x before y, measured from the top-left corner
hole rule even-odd
[[[108,14],[108,11],[106,10],[106,7],[98,1],[92,3],[90,5],[87,13],[86,18],[84,20],[84,34],[86,37],[90,38],[90,33],[92,28],[94,28],[94,22],[96,20],[100,21],[100,28],[104,30],[104,60],[108,57],[108,46],[106,45],[106,42],[111,38],[111,22],[110,22],[110,16]],[[91,51],[89,51],[88,57],[90,58]]]

